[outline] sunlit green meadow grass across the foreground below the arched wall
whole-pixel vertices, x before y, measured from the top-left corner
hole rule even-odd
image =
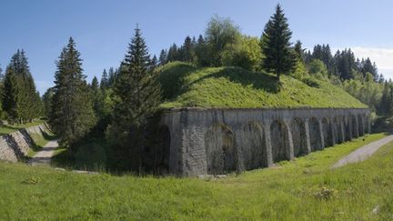
[[[393,144],[365,162],[330,169],[383,136],[207,180],[79,175],[0,163],[0,220],[391,220]]]

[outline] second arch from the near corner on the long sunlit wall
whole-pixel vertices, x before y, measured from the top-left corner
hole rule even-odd
[[[267,146],[264,129],[257,122],[241,127],[241,153],[246,170],[267,166]]]

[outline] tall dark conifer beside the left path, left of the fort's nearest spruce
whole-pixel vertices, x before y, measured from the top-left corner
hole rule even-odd
[[[86,75],[83,75],[82,59],[72,37],[56,66],[49,124],[55,134],[61,137],[63,145],[68,146],[72,152],[74,145],[96,124]]]

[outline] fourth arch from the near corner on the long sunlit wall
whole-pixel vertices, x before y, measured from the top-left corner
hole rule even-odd
[[[291,123],[291,131],[294,156],[307,155],[307,135],[304,121],[298,117],[294,118]]]

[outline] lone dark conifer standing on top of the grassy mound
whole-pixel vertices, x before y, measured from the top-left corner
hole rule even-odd
[[[281,6],[277,5],[276,13],[270,17],[265,26],[261,45],[265,55],[262,67],[267,72],[275,72],[278,81],[281,74],[288,74],[296,65],[296,56],[289,42],[291,35],[287,17]]]

